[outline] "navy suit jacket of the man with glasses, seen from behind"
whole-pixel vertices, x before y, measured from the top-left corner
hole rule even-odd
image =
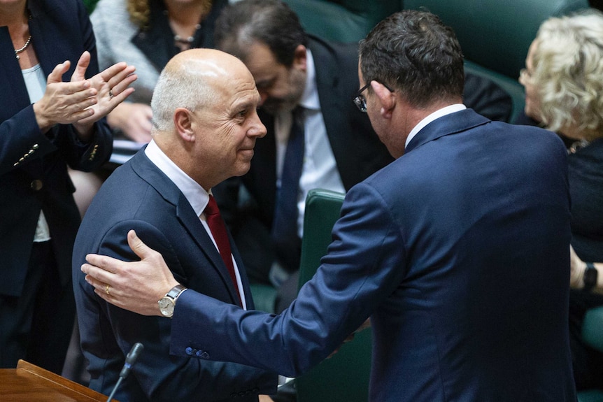
[[[299,375],[370,316],[371,401],[575,401],[569,240],[558,136],[462,110],[350,189],[290,308],[185,292],[171,351]]]

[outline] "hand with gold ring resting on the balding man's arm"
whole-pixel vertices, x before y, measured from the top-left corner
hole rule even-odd
[[[128,232],[128,245],[141,261],[88,254],[88,264],[81,267],[86,282],[108,303],[141,315],[161,316],[157,301],[178,281],[162,255],[143,243],[134,230]]]

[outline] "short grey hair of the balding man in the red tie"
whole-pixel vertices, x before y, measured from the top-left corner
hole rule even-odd
[[[171,130],[176,108],[194,112],[215,103],[218,95],[209,78],[190,60],[163,69],[151,99],[153,129]]]

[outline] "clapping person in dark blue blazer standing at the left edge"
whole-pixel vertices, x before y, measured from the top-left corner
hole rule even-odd
[[[136,79],[125,63],[99,73],[94,48],[80,1],[0,2],[2,368],[18,359],[59,374],[63,368],[80,224],[67,166],[92,171],[108,159],[104,116]]]

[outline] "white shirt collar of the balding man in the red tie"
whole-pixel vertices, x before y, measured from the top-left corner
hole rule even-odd
[[[159,168],[173,184],[184,194],[190,206],[197,216],[203,213],[209,201],[208,192],[187,175],[181,168],[159,148],[155,141],[151,140],[145,149],[145,155]]]

